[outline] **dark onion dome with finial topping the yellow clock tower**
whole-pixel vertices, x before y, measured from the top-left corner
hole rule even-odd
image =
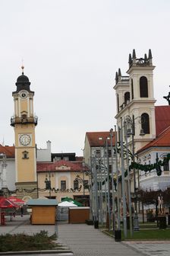
[[[30,91],[29,78],[27,77],[27,75],[24,75],[24,66],[21,66],[21,69],[23,70],[22,75],[20,75],[17,78],[17,82],[15,83],[15,85],[17,85],[17,91],[14,91],[14,93],[19,92],[21,90],[27,90],[29,92],[33,92],[33,91]]]

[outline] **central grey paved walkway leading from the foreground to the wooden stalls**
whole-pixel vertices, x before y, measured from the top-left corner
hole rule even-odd
[[[58,223],[59,238],[74,252],[74,256],[141,256],[135,248],[103,234],[86,224]]]

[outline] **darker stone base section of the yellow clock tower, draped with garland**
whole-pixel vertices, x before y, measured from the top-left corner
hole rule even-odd
[[[20,199],[36,199],[38,198],[37,182],[16,182],[16,195]]]

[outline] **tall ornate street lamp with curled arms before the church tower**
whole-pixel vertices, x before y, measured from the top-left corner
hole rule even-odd
[[[138,123],[143,123],[141,117],[131,118],[129,115],[124,117],[124,124],[127,129],[127,136],[132,136],[132,162],[134,162],[134,120],[138,120]],[[140,130],[140,136],[144,136],[143,129]],[[139,221],[137,215],[137,187],[136,187],[136,170],[134,168],[134,231],[139,230]]]

